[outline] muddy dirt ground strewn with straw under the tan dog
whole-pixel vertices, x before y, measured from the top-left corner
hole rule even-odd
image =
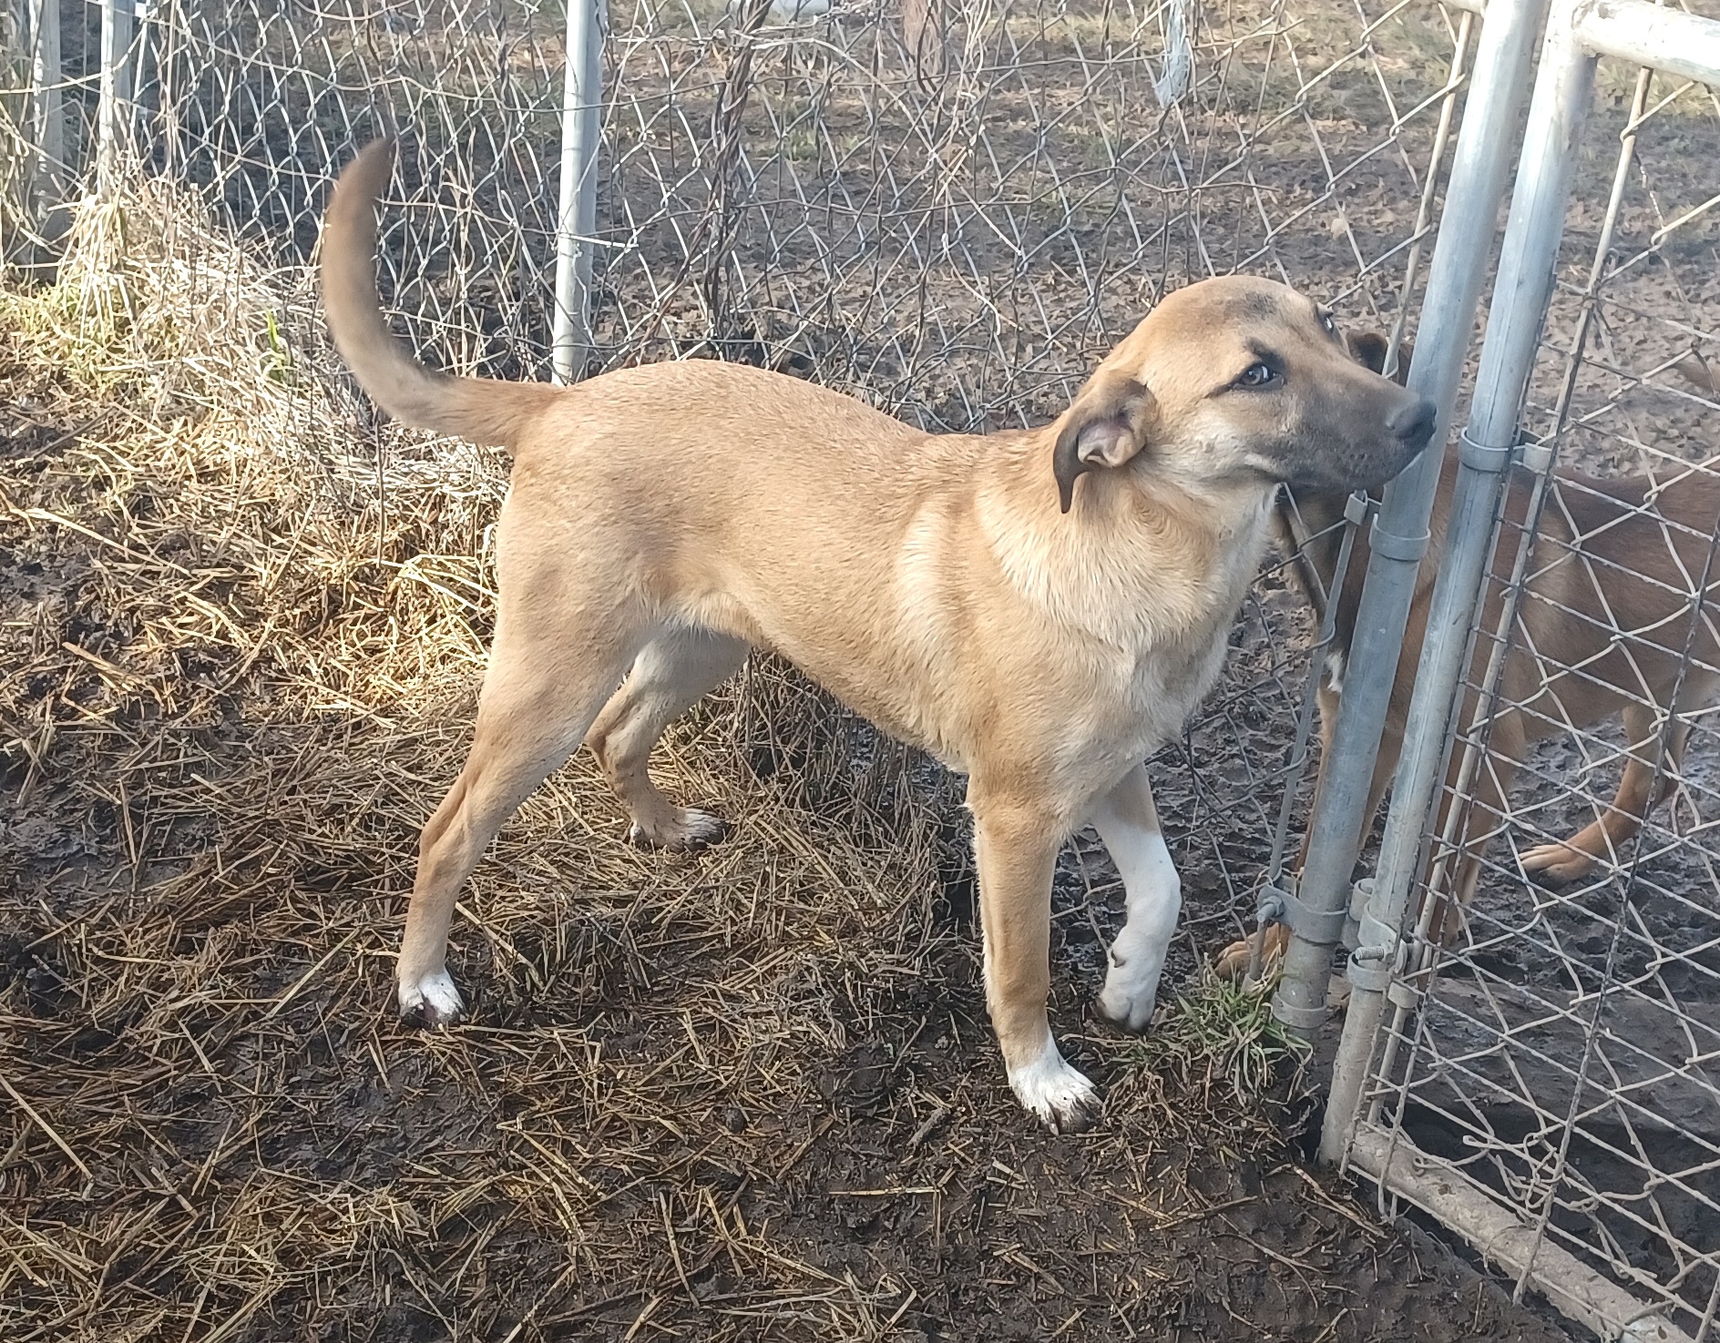
[[[1202,846],[1257,834],[1216,743],[1281,724],[1273,581],[1156,763],[1190,999],[1144,1042],[1085,1013],[1115,879],[1090,837],[1061,868],[1092,1135],[1003,1083],[948,781],[769,664],[660,762],[733,837],[635,851],[574,762],[463,901],[470,1025],[402,1032],[502,476],[408,438],[380,471],[322,382],[230,349],[277,297],[213,261],[144,258],[131,310],[100,272],[3,297],[7,1338],[1562,1338],[1311,1171],[1259,1001],[1192,973],[1238,894]]]

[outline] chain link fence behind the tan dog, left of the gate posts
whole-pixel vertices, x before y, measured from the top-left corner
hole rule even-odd
[[[9,50],[40,76],[29,3]],[[96,181],[100,14],[60,3],[58,86],[7,95],[14,263],[52,258]],[[1053,416],[1161,292],[1207,273],[1275,275],[1393,328],[1474,22],[1424,0],[616,3],[580,239],[585,366],[738,359],[989,430]],[[318,344],[303,311],[332,175],[397,127],[384,292],[406,332],[447,368],[549,373],[564,10],[169,0],[127,50],[120,155],[198,189],[272,263],[301,349]],[[1311,635],[1283,574],[1262,574],[1225,686],[1164,762],[1185,970],[1252,918],[1285,851]],[[1068,899],[1113,884],[1097,856],[1065,867]]]

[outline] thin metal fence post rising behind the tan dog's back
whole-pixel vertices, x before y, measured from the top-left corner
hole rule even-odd
[[[561,100],[561,208],[556,215],[552,377],[585,373],[592,351],[592,244],[597,232],[597,139],[604,107],[602,0],[568,0],[568,72]]]

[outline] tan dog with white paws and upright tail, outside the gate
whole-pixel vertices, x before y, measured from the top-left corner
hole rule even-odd
[[[1240,277],[1171,294],[1056,423],[989,437],[721,363],[568,389],[449,378],[377,303],[390,162],[368,146],[329,208],[335,344],[390,414],[514,454],[495,643],[471,755],[423,831],[401,1013],[459,1013],[444,951],[461,882],[581,741],[643,841],[717,836],[647,758],[764,647],[968,776],[1010,1085],[1054,1130],[1090,1123],[1092,1083],[1046,1020],[1058,848],[1090,820],[1121,872],[1099,1009],[1139,1030],[1180,908],[1140,762],[1218,672],[1278,481],[1379,483],[1426,445],[1433,406],[1352,361],[1314,303]]]

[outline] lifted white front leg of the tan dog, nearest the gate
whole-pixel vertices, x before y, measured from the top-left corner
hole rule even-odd
[[[1123,877],[1127,901],[1099,1011],[1125,1030],[1146,1030],[1182,913],[1182,879],[1164,846],[1144,765],[1128,770],[1099,801],[1092,825]]]

